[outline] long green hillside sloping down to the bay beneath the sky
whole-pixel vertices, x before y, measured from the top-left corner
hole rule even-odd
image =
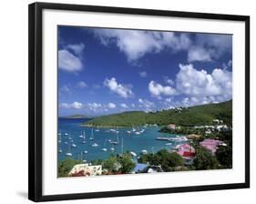
[[[169,109],[145,113],[131,111],[103,117],[95,117],[83,124],[97,127],[131,127],[144,124],[168,125],[174,123],[179,126],[210,125],[213,119],[221,119],[231,126],[232,101],[220,104],[208,104],[196,107],[183,107],[182,109]]]

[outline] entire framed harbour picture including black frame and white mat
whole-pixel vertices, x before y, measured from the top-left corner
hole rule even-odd
[[[250,188],[250,16],[29,5],[28,198]]]

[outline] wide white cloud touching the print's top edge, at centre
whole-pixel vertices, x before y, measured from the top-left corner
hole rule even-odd
[[[187,49],[190,44],[186,34],[141,30],[95,29],[95,36],[104,46],[115,44],[128,61],[135,61],[148,53],[159,53],[165,48],[173,51]]]

